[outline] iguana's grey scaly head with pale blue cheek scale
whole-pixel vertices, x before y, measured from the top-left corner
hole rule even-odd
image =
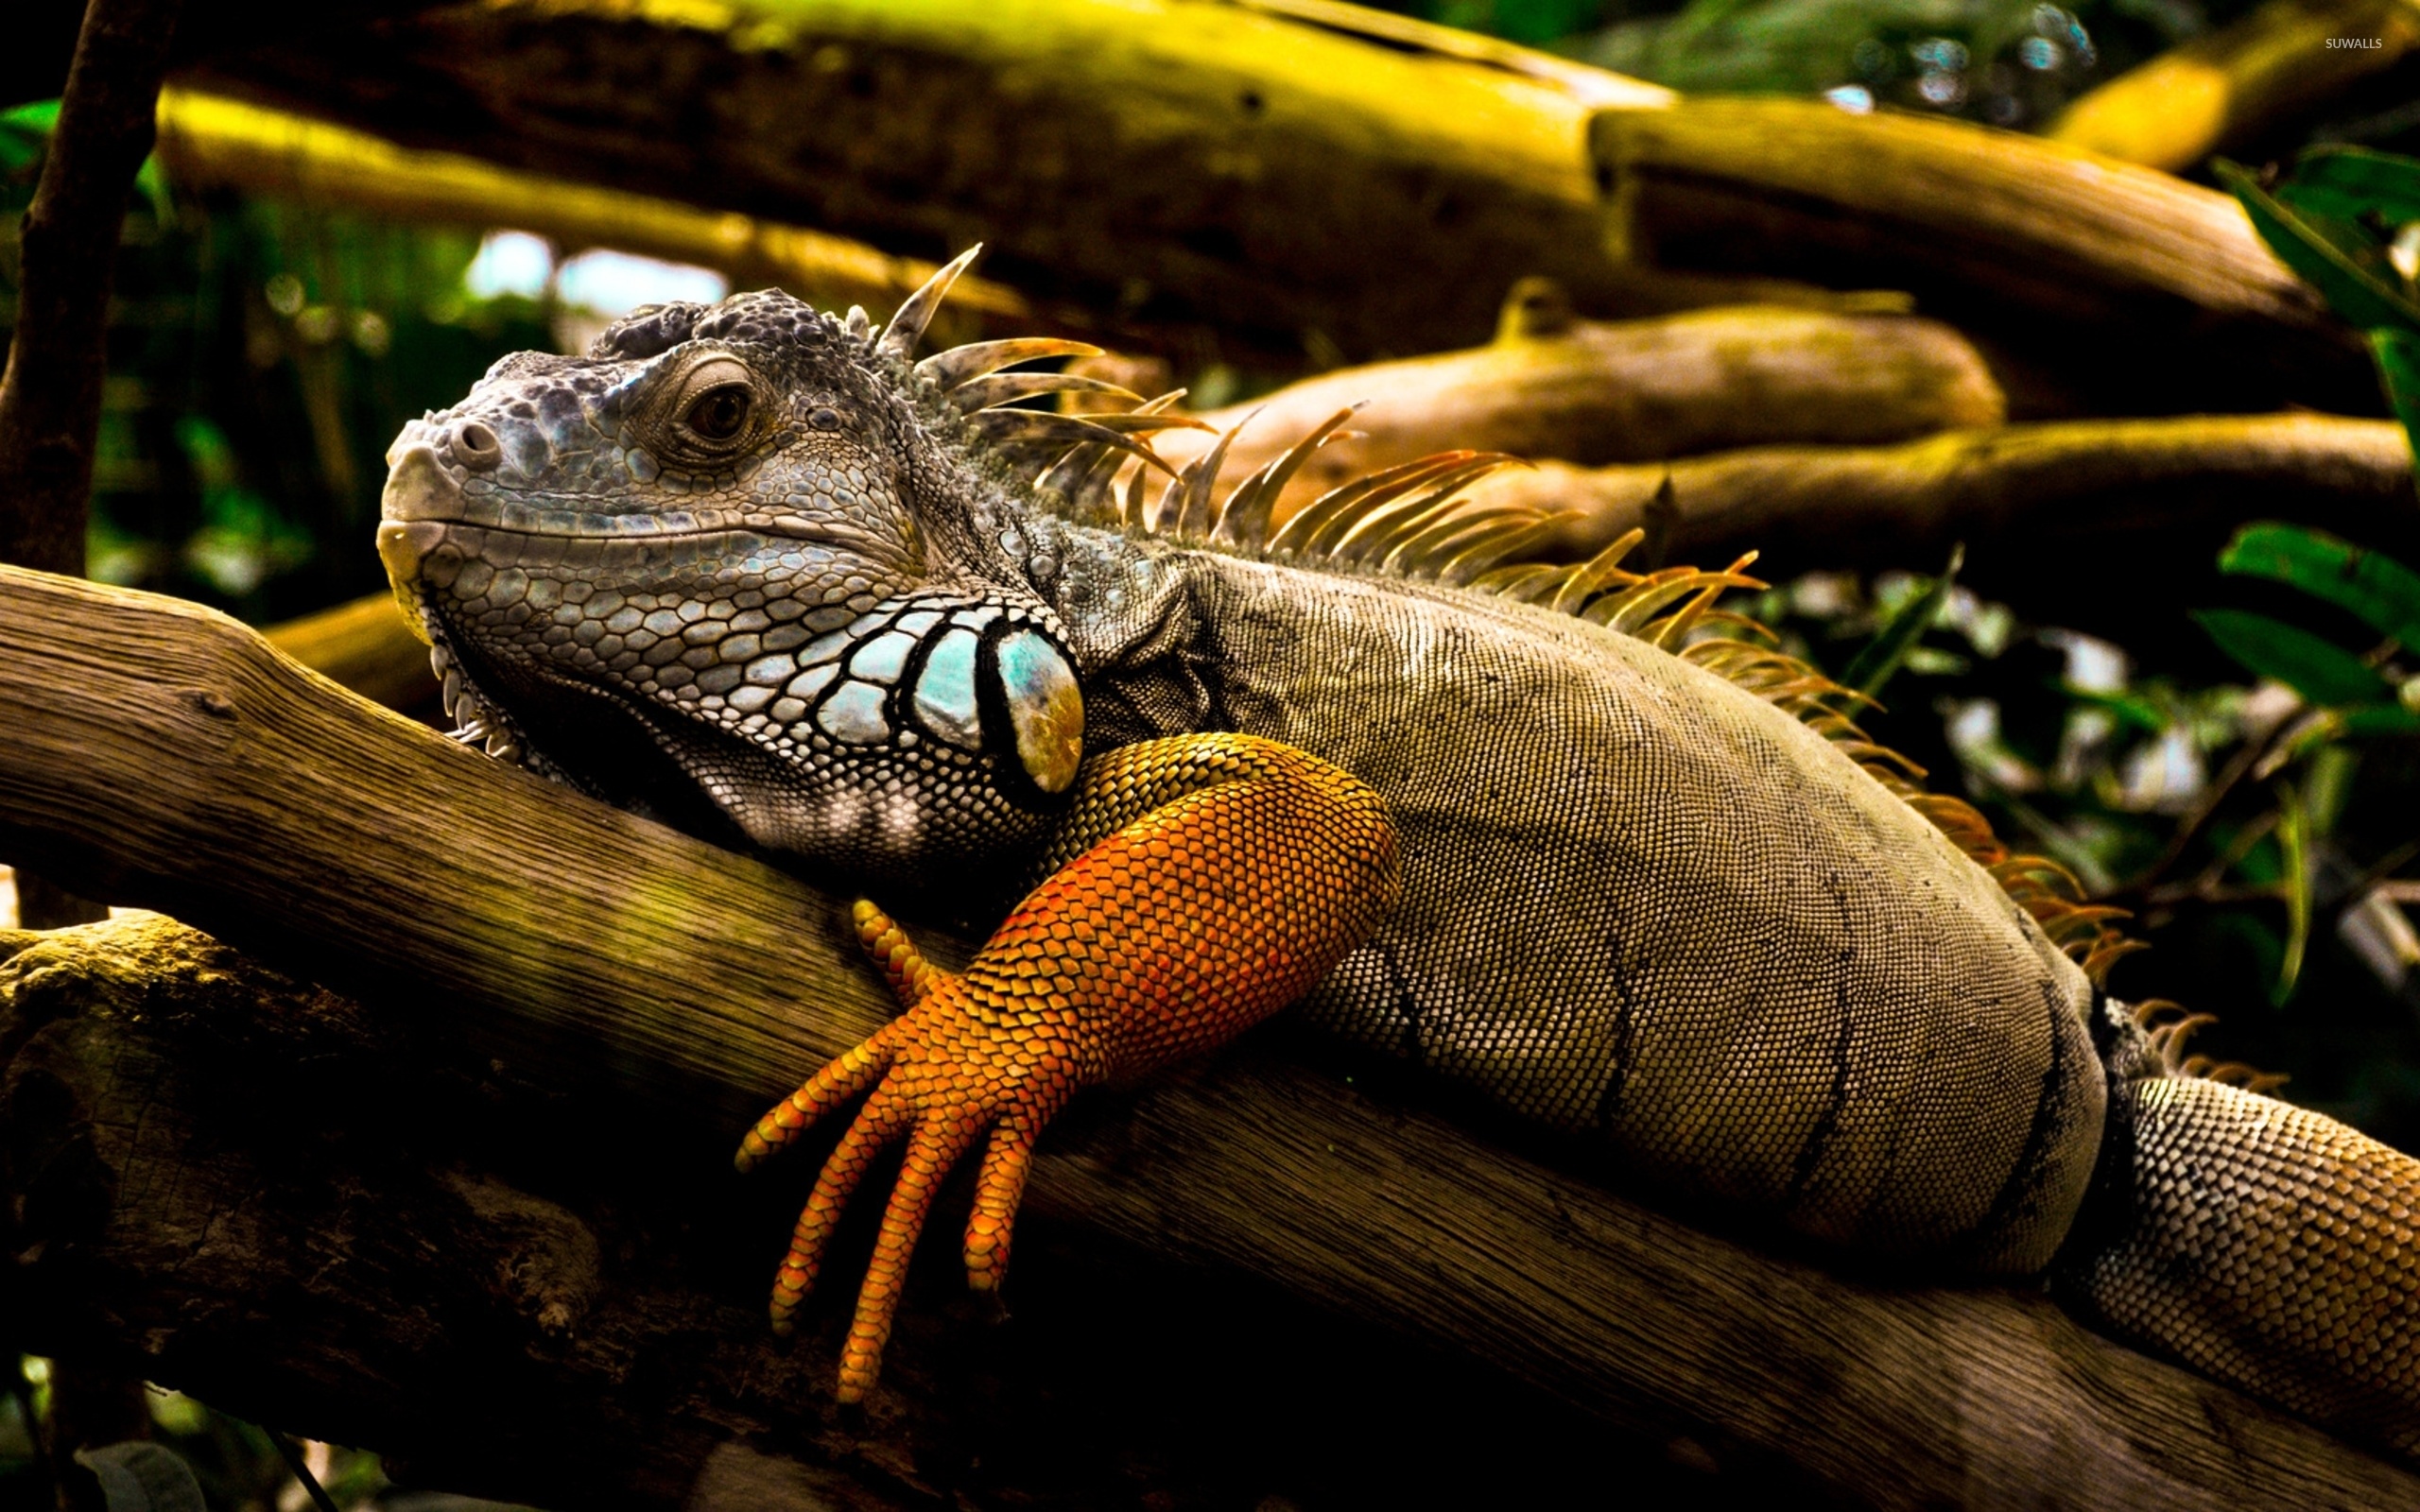
[[[1055,564],[908,368],[963,264],[881,339],[661,305],[404,426],[378,549],[465,731],[874,876],[1036,832],[1084,740]]]

